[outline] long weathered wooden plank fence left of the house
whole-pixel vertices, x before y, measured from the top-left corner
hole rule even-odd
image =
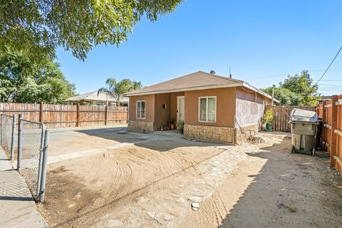
[[[0,103],[0,114],[22,114],[23,119],[45,123],[46,128],[86,127],[127,123],[128,108],[90,105]],[[17,122],[18,123],[18,122]]]

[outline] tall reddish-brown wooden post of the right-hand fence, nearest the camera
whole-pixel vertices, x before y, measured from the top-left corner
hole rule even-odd
[[[337,108],[336,102],[338,101],[338,96],[333,95],[333,98],[331,99],[331,153],[330,153],[330,167],[336,167],[336,161],[334,159],[334,156],[337,155],[337,147],[336,147],[336,133],[335,130],[337,128]]]

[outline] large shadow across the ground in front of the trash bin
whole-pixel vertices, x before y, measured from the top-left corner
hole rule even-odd
[[[260,150],[249,156],[266,163],[220,228],[342,226],[342,181],[326,158],[291,154],[289,138]]]

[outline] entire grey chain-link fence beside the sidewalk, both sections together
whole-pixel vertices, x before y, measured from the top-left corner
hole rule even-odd
[[[0,116],[0,146],[14,159],[16,115]],[[48,162],[48,130],[43,123],[24,120],[19,114],[16,166],[36,201],[43,202]]]

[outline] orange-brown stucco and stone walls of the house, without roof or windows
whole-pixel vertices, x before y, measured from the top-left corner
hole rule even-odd
[[[193,90],[180,93],[162,93],[130,97],[128,129],[139,132],[152,132],[160,125],[168,125],[169,120],[177,119],[177,96],[185,96],[185,129],[187,138],[217,142],[244,142],[249,130],[257,133],[264,114],[264,105],[271,99],[247,88],[216,88]],[[216,96],[216,122],[199,122],[199,97]],[[146,101],[146,118],[136,119],[136,101]],[[162,104],[166,108],[162,108]],[[247,132],[243,134],[234,123],[234,115],[239,125]],[[234,129],[234,126],[236,129]]]

